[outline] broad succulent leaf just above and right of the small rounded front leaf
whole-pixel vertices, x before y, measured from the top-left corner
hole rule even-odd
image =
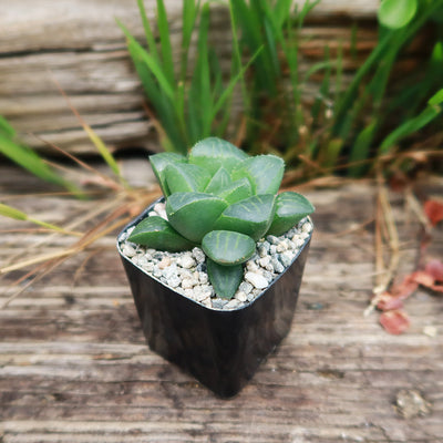
[[[214,229],[235,230],[258,240],[274,219],[275,200],[274,195],[265,194],[234,203],[224,210]]]

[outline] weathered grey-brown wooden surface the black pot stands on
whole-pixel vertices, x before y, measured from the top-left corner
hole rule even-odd
[[[442,181],[420,195],[441,195]],[[52,190],[0,166],[0,199],[48,222],[72,220],[100,202],[20,196]],[[442,298],[419,290],[406,302],[411,329],[390,336],[363,317],[374,284],[374,187],[309,190],[316,234],[291,331],[233,400],[218,400],[148,350],[114,249],[100,244],[0,310],[0,441],[34,442],[408,442],[443,435]],[[4,199],[7,198],[7,199]],[[420,231],[401,195],[391,195],[401,238],[400,274],[414,269]],[[0,219],[0,229],[17,228]],[[348,234],[344,234],[348,233]],[[0,236],[0,264],[41,235]],[[54,238],[40,253],[69,244]],[[443,230],[429,256],[442,257]],[[0,302],[9,284],[0,280]],[[433,326],[436,336],[423,328]],[[401,390],[416,390],[430,412],[405,420]]]

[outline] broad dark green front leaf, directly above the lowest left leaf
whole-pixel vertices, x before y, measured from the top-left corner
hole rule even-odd
[[[190,241],[200,243],[226,209],[227,203],[206,193],[175,193],[166,200],[169,224]]]

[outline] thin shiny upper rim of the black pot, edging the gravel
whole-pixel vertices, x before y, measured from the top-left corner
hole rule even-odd
[[[259,298],[261,298],[269,288],[271,288],[285,274],[286,271],[293,265],[293,262],[298,259],[298,257],[300,256],[301,251],[306,248],[306,246],[309,244],[309,241],[312,238],[312,233],[313,233],[313,222],[312,218],[310,216],[306,217],[308,218],[308,220],[310,222],[310,224],[312,225],[312,229],[309,233],[309,236],[305,239],[305,243],[299,247],[296,256],[292,258],[291,262],[285,268],[285,270],[282,272],[280,272],[279,275],[277,275],[272,281],[260,292],[258,293],[253,301],[249,301],[247,305],[243,305],[233,309],[223,309],[223,308],[213,308],[213,307],[208,307],[206,305],[203,305],[202,302],[194,300],[187,296],[185,296],[182,292],[176,291],[174,288],[172,288],[171,286],[165,285],[161,279],[158,279],[157,277],[153,276],[152,274],[147,272],[145,269],[143,269],[142,267],[140,267],[138,265],[134,264],[131,258],[126,257],[123,251],[122,248],[120,247],[120,244],[124,240],[121,240],[121,237],[123,236],[123,234],[130,229],[131,227],[133,227],[134,225],[136,225],[137,223],[140,223],[141,220],[143,220],[144,218],[147,217],[147,214],[151,212],[152,207],[156,204],[156,203],[161,203],[162,200],[164,200],[165,197],[162,196],[159,198],[157,198],[156,200],[154,200],[153,203],[151,203],[138,216],[136,216],[134,219],[132,219],[131,222],[128,222],[123,228],[122,230],[119,233],[117,238],[116,238],[116,248],[119,250],[119,254],[122,258],[124,258],[127,262],[130,262],[132,266],[136,267],[137,269],[140,269],[142,272],[144,272],[146,276],[148,276],[150,278],[154,279],[155,281],[157,281],[158,284],[161,284],[162,286],[164,286],[165,288],[172,290],[174,293],[176,293],[177,296],[184,297],[185,299],[193,301],[194,303],[196,303],[197,306],[202,307],[202,308],[206,308],[208,310],[212,311],[216,311],[216,312],[234,312],[234,311],[241,311],[243,309],[247,309],[250,306],[253,306]],[[288,229],[289,230],[289,229]],[[159,250],[162,251],[162,250]],[[164,253],[164,251],[162,251]]]

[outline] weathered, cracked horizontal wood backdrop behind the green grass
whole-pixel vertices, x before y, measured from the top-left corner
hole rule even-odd
[[[153,18],[155,3],[145,3]],[[166,8],[172,38],[177,41],[182,2],[167,0]],[[310,16],[311,25],[303,30],[306,58],[301,69],[322,58],[326,43],[342,41],[349,45],[349,21],[353,19],[372,20],[372,28],[362,27],[365,43],[358,48],[359,53],[367,53],[375,44],[377,8],[375,0],[323,0]],[[24,142],[41,151],[50,151],[48,144],[54,143],[73,153],[95,152],[62,99],[56,81],[111,148],[157,148],[143,109],[142,87],[115,18],[142,39],[135,0],[14,0],[4,8],[0,16],[0,115],[10,120]],[[213,20],[213,40],[224,54],[222,65],[229,72],[226,9],[217,9]],[[369,40],[364,37],[368,33]],[[356,66],[356,61],[349,58],[347,64],[347,69]],[[308,85],[308,101],[315,91]]]

